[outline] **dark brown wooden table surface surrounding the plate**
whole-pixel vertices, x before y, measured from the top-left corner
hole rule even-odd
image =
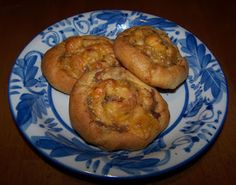
[[[228,80],[229,109],[223,131],[197,161],[162,178],[141,183],[216,185],[236,182],[236,14],[232,1],[0,1],[0,184],[97,184],[73,176],[44,161],[23,139],[8,103],[8,78],[26,44],[47,26],[69,16],[97,9],[127,9],[172,20],[194,33],[219,60]],[[104,183],[104,182],[103,182]],[[103,184],[101,183],[101,184]],[[123,182],[124,183],[124,182]],[[109,183],[108,183],[109,184]]]

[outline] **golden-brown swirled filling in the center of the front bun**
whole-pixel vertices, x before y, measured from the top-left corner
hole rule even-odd
[[[99,126],[148,138],[159,128],[153,92],[128,80],[106,79],[91,88],[87,104]]]

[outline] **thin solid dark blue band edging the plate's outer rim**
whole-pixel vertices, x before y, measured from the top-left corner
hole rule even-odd
[[[92,10],[92,11],[83,11],[83,12],[80,12],[78,14],[75,14],[75,15],[72,15],[72,16],[69,16],[69,17],[66,17],[66,18],[63,18],[63,19],[60,19],[58,21],[55,21],[54,23],[52,23],[51,25],[47,26],[45,29],[43,30],[46,30],[47,28],[49,28],[50,26],[53,26],[55,25],[56,23],[60,22],[60,21],[63,21],[63,20],[66,20],[66,19],[71,19],[75,16],[78,16],[78,15],[81,15],[81,14],[89,14],[89,13],[92,13],[92,12],[103,12],[103,11],[125,11],[125,12],[138,12],[138,13],[142,13],[142,14],[146,14],[146,15],[149,15],[149,16],[154,16],[154,17],[159,17],[161,19],[164,19],[164,20],[167,20],[167,21],[171,21],[171,22],[174,22],[172,20],[169,20],[169,19],[166,19],[166,18],[163,18],[159,15],[155,15],[155,14],[151,14],[151,13],[146,13],[146,12],[143,12],[143,11],[138,11],[138,10],[127,10],[127,9],[98,9],[98,10]],[[176,23],[176,22],[174,22]],[[188,29],[182,27],[180,24],[176,23],[177,26],[181,27],[181,29],[184,29],[186,30],[187,32],[191,33],[195,38],[197,38],[200,42],[202,42],[202,40],[200,40],[195,34],[193,34],[192,32],[190,32]],[[20,128],[20,126],[17,124],[17,120],[16,120],[16,116],[15,116],[15,112],[14,112],[14,108],[13,108],[13,104],[12,104],[12,100],[11,100],[11,95],[10,95],[10,80],[11,80],[11,77],[12,77],[12,73],[13,73],[13,66],[16,64],[16,60],[19,58],[19,56],[23,53],[23,51],[25,50],[25,48],[37,37],[40,35],[40,33],[43,31],[41,30],[40,32],[38,32],[37,34],[35,34],[31,39],[30,41],[26,42],[26,45],[23,46],[23,49],[19,50],[19,53],[18,55],[16,55],[16,58],[15,58],[15,62],[13,63],[12,65],[12,68],[10,70],[10,73],[9,73],[9,77],[8,77],[8,88],[7,88],[7,94],[8,94],[8,106],[10,108],[10,112],[11,112],[11,116],[13,118],[13,122],[15,123],[15,126],[17,127],[18,131],[20,131],[20,134],[23,136],[23,140],[26,141],[26,143],[31,146],[31,148],[37,152],[39,154],[39,156],[41,158],[43,158],[44,160],[46,160],[46,162],[48,162],[50,165],[52,164],[53,166],[56,166],[59,170],[65,170],[66,173],[70,172],[72,173],[73,175],[83,175],[85,177],[90,177],[90,178],[96,178],[96,179],[101,179],[101,180],[136,180],[136,179],[144,179],[144,178],[149,178],[149,177],[159,177],[159,176],[162,176],[162,175],[165,175],[165,174],[169,174],[171,172],[175,172],[177,169],[181,169],[181,168],[184,168],[186,167],[188,164],[191,165],[191,163],[194,163],[196,160],[198,160],[200,157],[203,156],[203,154],[205,152],[207,152],[211,147],[212,145],[216,142],[216,140],[218,139],[220,133],[222,132],[223,130],[223,127],[225,125],[225,120],[226,120],[226,117],[227,117],[227,114],[228,114],[228,108],[229,108],[229,86],[228,86],[228,80],[227,80],[227,76],[225,75],[225,72],[222,68],[222,65],[221,63],[219,62],[219,60],[217,60],[216,56],[211,52],[211,50],[208,48],[208,46],[205,44],[205,42],[202,42],[205,47],[210,51],[210,53],[214,56],[214,58],[216,59],[217,61],[217,64],[219,65],[220,67],[220,70],[222,71],[223,73],[223,76],[224,76],[224,80],[225,80],[225,85],[226,85],[226,91],[225,91],[225,94],[226,94],[226,100],[225,100],[225,109],[224,109],[224,115],[222,116],[222,121],[219,123],[219,127],[218,129],[216,130],[215,134],[213,135],[213,137],[211,138],[211,140],[206,144],[204,145],[203,147],[200,148],[200,150],[197,150],[197,152],[193,155],[191,155],[189,158],[183,160],[181,163],[177,164],[177,165],[173,165],[171,167],[168,167],[167,169],[164,169],[164,170],[160,170],[160,171],[153,171],[153,172],[150,172],[148,174],[141,174],[141,175],[132,175],[132,176],[109,176],[109,175],[102,175],[102,174],[96,174],[96,173],[91,173],[91,172],[85,172],[84,170],[80,170],[80,169],[75,169],[73,167],[70,167],[69,165],[65,165],[63,164],[62,162],[52,158],[52,157],[49,157],[49,155],[43,151],[43,149],[40,149],[39,147],[37,147],[33,141],[29,138],[29,136],[27,135],[27,133],[22,129]]]

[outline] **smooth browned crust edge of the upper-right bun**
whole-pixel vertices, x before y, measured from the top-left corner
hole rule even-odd
[[[188,63],[183,58],[178,65],[164,67],[156,65],[153,68],[151,59],[133,47],[124,37],[114,42],[116,57],[129,71],[145,83],[164,89],[175,89],[188,75]]]

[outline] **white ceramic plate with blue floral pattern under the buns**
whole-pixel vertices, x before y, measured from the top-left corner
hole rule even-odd
[[[44,53],[73,35],[116,35],[135,25],[164,30],[189,63],[189,76],[174,92],[163,92],[169,126],[139,151],[106,152],[85,143],[71,128],[69,96],[42,76]],[[39,33],[20,53],[9,79],[9,102],[20,132],[44,157],[69,171],[98,178],[158,176],[200,156],[218,136],[227,113],[222,69],[192,33],[164,18],[136,11],[99,10],[64,19]]]

